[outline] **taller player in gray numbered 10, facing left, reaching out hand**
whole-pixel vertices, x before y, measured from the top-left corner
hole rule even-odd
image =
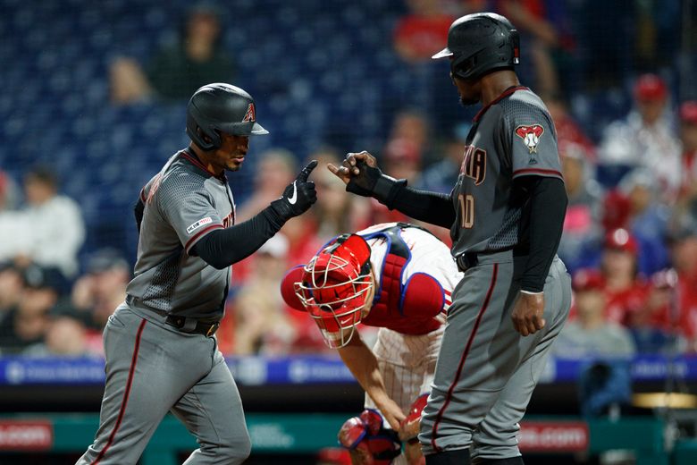
[[[523,463],[518,421],[567,319],[571,283],[556,257],[567,194],[554,124],[518,82],[517,31],[504,17],[454,21],[448,57],[461,103],[483,107],[450,195],[407,187],[367,152],[329,165],[347,190],[450,228],[463,278],[452,294],[419,441],[428,465]]]

